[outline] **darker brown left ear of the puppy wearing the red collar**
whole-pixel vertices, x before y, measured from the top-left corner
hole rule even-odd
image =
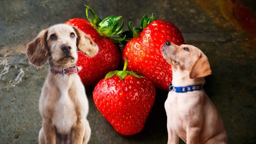
[[[28,44],[26,54],[31,64],[44,65],[49,59],[46,38],[48,30],[42,30],[38,36]]]

